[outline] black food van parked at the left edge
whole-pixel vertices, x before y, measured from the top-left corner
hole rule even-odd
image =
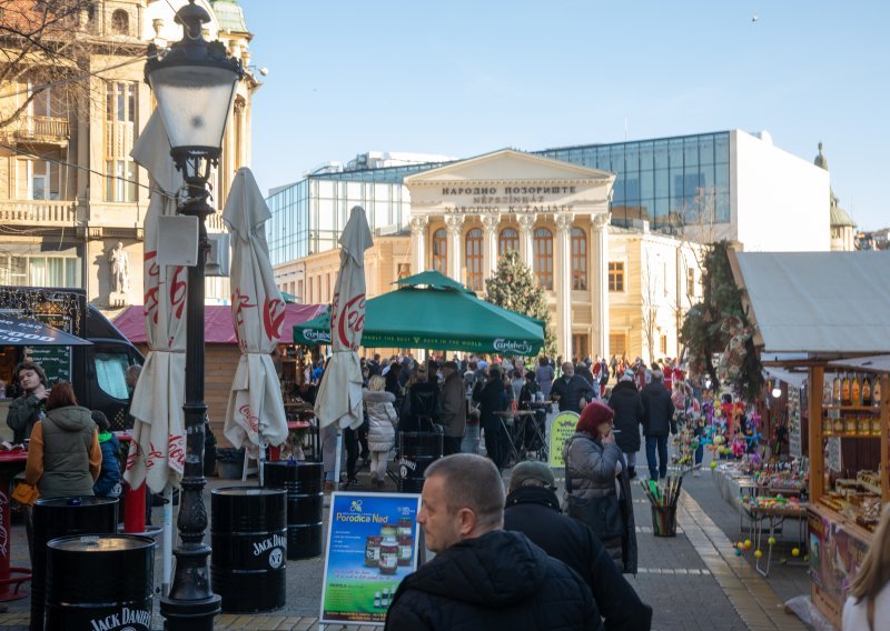
[[[12,383],[14,364],[32,359],[47,372],[50,385],[70,380],[81,405],[101,410],[112,427],[122,427],[130,399],[125,373],[145,359],[101,311],[87,303],[82,289],[0,286],[0,309],[92,342],[79,347],[0,347],[0,379]],[[7,388],[6,394],[14,398],[19,393]]]

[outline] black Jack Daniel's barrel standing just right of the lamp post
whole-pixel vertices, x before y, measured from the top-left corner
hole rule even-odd
[[[285,605],[287,537],[285,493],[227,487],[210,494],[210,578],[227,613]]]

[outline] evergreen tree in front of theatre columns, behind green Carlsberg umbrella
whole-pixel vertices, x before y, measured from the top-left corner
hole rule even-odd
[[[556,354],[556,337],[551,324],[547,297],[532,270],[520,260],[520,253],[508,251],[501,257],[492,278],[485,280],[486,300],[504,309],[531,316],[544,322],[542,352]]]

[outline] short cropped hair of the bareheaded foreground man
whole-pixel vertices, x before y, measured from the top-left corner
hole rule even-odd
[[[504,481],[491,460],[475,453],[454,453],[426,468],[426,477],[433,475],[444,479],[449,512],[468,508],[481,525],[492,530],[504,525]]]

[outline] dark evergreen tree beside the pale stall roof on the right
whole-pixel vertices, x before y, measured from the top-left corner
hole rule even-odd
[[[732,276],[726,241],[708,249],[702,262],[702,301],[689,310],[680,331],[690,370],[693,374],[708,374],[714,389],[724,381],[743,400],[754,401],[763,388],[763,367],[742,306],[742,290]]]

